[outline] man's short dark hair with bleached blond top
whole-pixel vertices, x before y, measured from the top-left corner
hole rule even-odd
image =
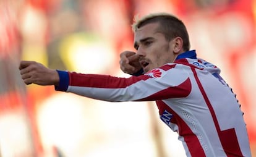
[[[190,42],[189,34],[184,23],[172,14],[160,12],[154,14],[148,14],[141,19],[139,15],[135,15],[134,23],[132,24],[132,31],[135,33],[140,27],[147,25],[148,23],[160,23],[158,32],[163,33],[166,40],[170,41],[177,36],[183,40],[184,51],[189,51]]]

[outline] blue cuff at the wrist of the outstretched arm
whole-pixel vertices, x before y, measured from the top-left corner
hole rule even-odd
[[[69,87],[69,72],[57,70],[59,74],[59,85],[55,85],[55,90],[67,91]]]

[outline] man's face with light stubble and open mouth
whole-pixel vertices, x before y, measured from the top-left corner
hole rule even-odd
[[[137,49],[140,65],[144,72],[173,62],[174,41],[167,41],[163,33],[157,32],[158,23],[148,23],[140,27],[134,34],[134,48]]]

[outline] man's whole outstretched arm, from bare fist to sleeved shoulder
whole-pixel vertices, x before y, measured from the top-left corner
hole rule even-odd
[[[170,66],[164,67],[164,69],[171,68]],[[161,69],[161,72],[163,76],[161,79],[153,78],[150,75],[120,78],[110,75],[77,74],[75,72],[52,70],[33,61],[20,62],[20,74],[27,85],[30,83],[55,85],[56,90],[71,92],[96,100],[153,101],[187,96],[188,88],[186,86],[189,83],[185,82],[187,80],[186,76],[172,81],[168,75],[176,74],[168,73],[163,69]]]

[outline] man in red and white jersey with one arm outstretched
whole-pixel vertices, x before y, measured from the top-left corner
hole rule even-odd
[[[20,62],[26,84],[55,85],[105,101],[156,101],[161,120],[179,134],[187,156],[251,156],[243,113],[220,69],[189,51],[181,20],[151,14],[133,25],[137,53],[121,54],[121,69],[137,76],[77,74]]]

